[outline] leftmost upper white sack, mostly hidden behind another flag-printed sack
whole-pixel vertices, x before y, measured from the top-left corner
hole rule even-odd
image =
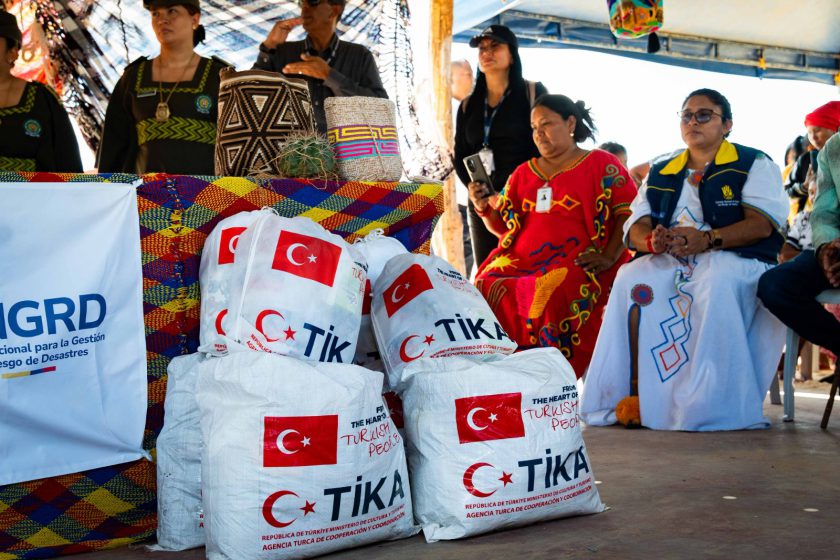
[[[213,228],[201,252],[198,281],[201,285],[201,323],[199,352],[217,356],[227,353],[225,332],[230,329],[230,271],[236,258],[239,236],[262,213],[270,210],[240,212],[225,218]]]

